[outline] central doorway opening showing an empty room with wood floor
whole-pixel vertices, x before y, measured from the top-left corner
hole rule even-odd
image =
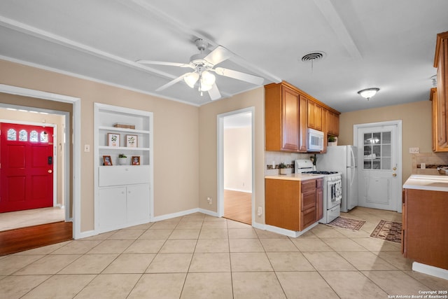
[[[218,116],[218,215],[252,225],[253,107]]]

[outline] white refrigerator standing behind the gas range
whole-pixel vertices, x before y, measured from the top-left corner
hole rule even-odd
[[[316,169],[342,174],[342,212],[358,206],[358,148],[356,146],[327,146],[327,153],[317,156]]]

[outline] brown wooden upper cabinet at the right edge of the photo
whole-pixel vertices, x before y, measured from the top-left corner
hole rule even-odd
[[[437,34],[434,67],[437,67],[437,138],[438,148],[448,147],[448,32]],[[434,106],[433,106],[434,108]],[[433,132],[434,136],[434,132]]]

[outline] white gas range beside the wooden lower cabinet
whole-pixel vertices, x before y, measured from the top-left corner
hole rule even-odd
[[[320,223],[330,223],[341,213],[342,179],[340,172],[313,170],[311,160],[295,160],[296,174],[323,175],[323,217]]]

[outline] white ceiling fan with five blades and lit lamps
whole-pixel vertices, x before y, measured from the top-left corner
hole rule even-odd
[[[175,78],[172,81],[169,81],[167,84],[160,86],[155,91],[164,90],[165,88],[169,88],[169,86],[178,83],[183,79],[187,83],[190,88],[194,88],[195,85],[198,85],[198,90],[201,92],[208,91],[210,98],[212,100],[221,98],[221,92],[219,92],[218,87],[216,86],[216,77],[211,72],[214,72],[220,76],[225,76],[229,78],[234,78],[241,81],[246,81],[248,83],[252,83],[255,85],[261,85],[264,81],[263,78],[258,76],[253,76],[246,73],[241,73],[241,71],[234,71],[232,69],[224,69],[223,67],[215,67],[216,64],[223,62],[224,60],[228,60],[232,55],[234,55],[230,50],[224,48],[223,46],[216,47],[211,53],[204,53],[204,50],[207,48],[208,43],[202,39],[197,39],[195,41],[197,49],[200,50],[200,53],[193,55],[190,57],[190,63],[177,63],[177,62],[162,62],[162,61],[153,61],[153,60],[137,60],[138,63],[141,64],[160,64],[160,65],[169,65],[173,67],[189,67],[193,69],[192,72],[188,72]]]

